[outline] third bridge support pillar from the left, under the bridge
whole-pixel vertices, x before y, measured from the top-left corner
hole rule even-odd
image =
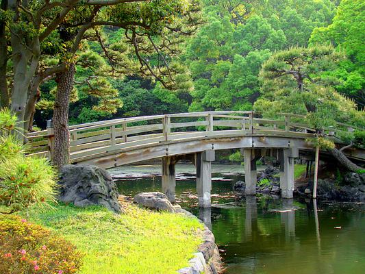
[[[244,155],[244,180],[246,183],[246,189],[244,190],[244,194],[255,195],[256,182],[257,182],[255,149],[244,149],[243,155]]]

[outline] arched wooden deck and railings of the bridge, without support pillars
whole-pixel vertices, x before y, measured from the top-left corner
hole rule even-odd
[[[205,149],[293,146],[313,149],[306,140],[314,137],[315,130],[304,123],[304,116],[286,113],[276,116],[278,120],[263,119],[257,112],[191,112],[72,125],[70,158],[73,163],[111,167]],[[336,129],[328,131],[348,128],[349,125],[338,123]],[[53,135],[49,132],[27,134],[30,155],[51,158]],[[349,153],[364,156],[361,152]]]

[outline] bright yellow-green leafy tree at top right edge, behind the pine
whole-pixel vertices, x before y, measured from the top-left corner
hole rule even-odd
[[[338,70],[327,75],[337,80],[336,90],[365,105],[365,3],[361,0],[342,0],[333,23],[314,29],[310,42],[331,42],[348,56]]]

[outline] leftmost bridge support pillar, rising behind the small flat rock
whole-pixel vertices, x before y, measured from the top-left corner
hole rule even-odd
[[[168,201],[175,203],[175,158],[162,158],[162,192],[168,197]]]

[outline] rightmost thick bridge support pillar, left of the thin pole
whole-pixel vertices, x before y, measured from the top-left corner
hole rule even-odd
[[[280,189],[281,197],[291,199],[294,190],[294,158],[298,157],[298,149],[282,149],[279,153],[280,161]]]

